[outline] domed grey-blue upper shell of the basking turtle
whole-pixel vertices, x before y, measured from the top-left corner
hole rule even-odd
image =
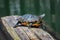
[[[39,21],[39,17],[36,16],[36,15],[32,15],[32,14],[25,14],[25,15],[22,16],[22,18],[26,22]]]

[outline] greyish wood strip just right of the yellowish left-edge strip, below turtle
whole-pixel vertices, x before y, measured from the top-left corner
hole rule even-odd
[[[20,27],[14,28],[21,40],[30,40],[27,34]]]

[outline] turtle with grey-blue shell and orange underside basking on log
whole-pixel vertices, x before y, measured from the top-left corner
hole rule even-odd
[[[25,14],[18,18],[18,22],[14,26],[14,28],[18,26],[26,26],[26,27],[35,27],[38,28],[42,25],[42,18],[45,16],[45,14],[42,14],[40,16],[33,15],[33,14]]]

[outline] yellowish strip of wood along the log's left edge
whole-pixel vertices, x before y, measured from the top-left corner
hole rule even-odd
[[[11,35],[11,37],[13,38],[13,40],[21,40],[18,35],[16,34],[16,32],[14,31],[13,27],[10,27],[8,25],[8,23],[6,22],[6,20],[4,20],[4,18],[1,18],[2,22],[4,24],[4,28],[6,28],[7,32]]]

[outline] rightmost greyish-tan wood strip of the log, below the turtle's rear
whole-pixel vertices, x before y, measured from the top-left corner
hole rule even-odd
[[[49,33],[47,33],[46,31],[43,31],[42,29],[31,28],[31,30],[38,36],[38,38],[42,40],[54,40]]]

